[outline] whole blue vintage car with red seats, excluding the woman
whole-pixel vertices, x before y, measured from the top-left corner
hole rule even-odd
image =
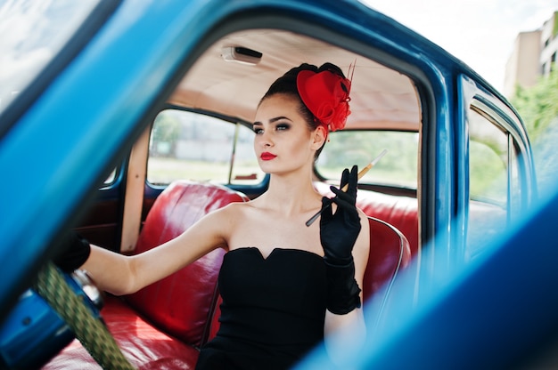
[[[0,369],[195,367],[220,326],[226,249],[123,296],[52,260],[70,229],[135,255],[264,194],[252,122],[269,85],[301,63],[331,62],[351,81],[316,192],[330,197],[343,169],[373,165],[357,191],[367,335],[328,333],[308,367],[335,362],[328,342],[352,367],[517,366],[548,338],[544,239],[556,217],[533,207],[536,147],[501,93],[425,37],[357,1],[4,8],[4,28],[21,32],[3,43],[0,84]]]

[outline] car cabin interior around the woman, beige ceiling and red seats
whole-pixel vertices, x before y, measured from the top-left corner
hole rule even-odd
[[[361,180],[357,196],[371,226],[365,300],[388,304],[398,272],[420,260],[419,95],[397,69],[291,31],[237,31],[201,52],[123,164],[99,187],[78,232],[113,251],[141,253],[218,207],[258,197],[268,181],[252,153],[259,99],[288,69],[328,61],[350,72],[351,114],[316,163],[315,186],[326,195],[343,168],[363,167],[388,150]],[[224,253],[209,253],[135,294],[105,294],[103,320],[133,365],[195,364],[201,345],[217,333]],[[43,368],[72,364],[98,368],[77,340]]]

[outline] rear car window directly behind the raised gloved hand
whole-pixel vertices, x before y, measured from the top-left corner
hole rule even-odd
[[[368,165],[383,149],[387,153],[360,180],[416,189],[419,134],[403,131],[336,131],[316,163],[316,171],[326,180],[339,181],[343,168]]]

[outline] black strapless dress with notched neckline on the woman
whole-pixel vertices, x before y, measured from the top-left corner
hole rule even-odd
[[[197,369],[287,369],[324,339],[325,266],[316,253],[258,248],[225,254],[217,336]]]

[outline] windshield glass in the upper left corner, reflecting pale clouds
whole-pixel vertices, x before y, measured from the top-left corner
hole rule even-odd
[[[0,2],[0,113],[53,60],[98,3]]]

